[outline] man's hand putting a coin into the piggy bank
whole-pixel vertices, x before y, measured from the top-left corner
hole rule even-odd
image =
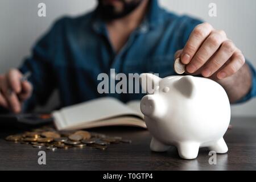
[[[199,24],[192,31],[185,47],[176,52],[177,57],[186,64],[188,74],[201,74],[213,80],[232,76],[245,64],[240,49],[224,31],[214,30],[209,23]]]

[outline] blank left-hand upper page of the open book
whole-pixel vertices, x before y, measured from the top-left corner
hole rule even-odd
[[[99,121],[120,115],[137,115],[141,117],[137,111],[130,109],[130,107],[113,97],[98,98],[64,107],[59,112],[55,111],[55,113],[61,115],[61,122],[63,123],[60,123],[60,125],[63,127],[80,125],[81,123]]]

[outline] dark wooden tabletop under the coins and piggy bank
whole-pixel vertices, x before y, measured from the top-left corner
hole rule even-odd
[[[256,118],[233,118],[233,129],[225,134],[228,154],[217,155],[217,164],[210,165],[207,148],[201,148],[194,160],[180,159],[175,147],[168,152],[151,152],[151,136],[147,130],[130,127],[94,129],[100,133],[131,139],[131,144],[112,144],[108,150],[71,148],[46,151],[46,165],[38,164],[37,148],[6,142],[7,135],[19,132],[0,129],[1,170],[255,170]]]

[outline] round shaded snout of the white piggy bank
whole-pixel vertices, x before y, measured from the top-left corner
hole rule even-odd
[[[144,96],[141,100],[141,111],[144,115],[152,115],[155,110],[155,98]]]

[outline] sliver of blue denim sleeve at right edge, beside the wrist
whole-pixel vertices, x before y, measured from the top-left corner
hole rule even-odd
[[[249,65],[251,72],[251,88],[249,92],[246,94],[246,96],[243,97],[241,100],[237,101],[235,104],[241,104],[256,96],[256,71],[249,61],[246,60],[246,63]]]

